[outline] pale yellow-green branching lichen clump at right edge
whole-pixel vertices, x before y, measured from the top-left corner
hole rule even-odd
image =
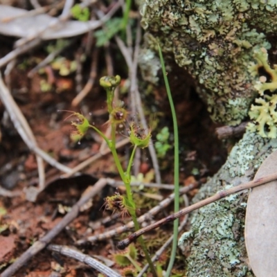
[[[258,132],[260,136],[270,139],[277,137],[277,65],[273,68],[268,64],[268,54],[265,48],[255,51],[257,64],[249,68],[252,75],[258,75],[259,80],[254,85],[260,94],[251,105],[249,117],[253,120],[247,129]]]

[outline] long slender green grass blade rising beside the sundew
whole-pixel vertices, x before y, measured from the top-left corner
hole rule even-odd
[[[177,116],[175,112],[174,103],[172,100],[172,95],[170,92],[170,87],[168,83],[168,77],[166,75],[166,66],[163,61],[163,54],[161,53],[161,47],[158,44],[159,56],[161,60],[161,69],[163,71],[163,79],[166,84],[166,92],[168,93],[168,100],[170,102],[170,109],[172,112],[173,120],[173,129],[174,129],[174,193],[175,193],[175,202],[174,202],[174,211],[175,213],[179,211],[179,139],[178,139],[178,125],[177,125]],[[166,277],[169,277],[171,274],[172,267],[175,262],[176,250],[177,250],[177,240],[178,240],[178,226],[179,220],[175,220],[173,228],[173,243],[170,256],[170,262],[168,264],[168,269],[166,271]]]

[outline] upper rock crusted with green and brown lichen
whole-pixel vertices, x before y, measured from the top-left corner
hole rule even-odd
[[[157,42],[202,84],[213,120],[240,123],[256,90],[248,66],[253,51],[271,48],[277,1],[145,0],[141,24],[151,48]]]

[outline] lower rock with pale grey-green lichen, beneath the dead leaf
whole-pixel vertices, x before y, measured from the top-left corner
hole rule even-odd
[[[262,161],[276,148],[277,139],[262,139],[259,134],[247,131],[233,147],[224,166],[202,186],[193,202],[250,181]],[[179,247],[190,251],[186,276],[253,276],[244,245],[246,206],[247,192],[244,191],[204,206],[190,216],[191,229],[179,240]]]

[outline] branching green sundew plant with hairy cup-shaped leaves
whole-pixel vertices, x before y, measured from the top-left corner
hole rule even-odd
[[[111,138],[108,138],[103,134],[100,129],[91,125],[89,120],[85,118],[82,114],[78,112],[71,111],[70,116],[75,116],[75,121],[71,122],[71,125],[74,127],[74,131],[71,134],[71,139],[73,141],[80,142],[80,139],[86,134],[89,128],[94,129],[107,143],[107,146],[111,150],[111,154],[114,157],[114,162],[116,163],[116,168],[118,169],[120,178],[123,180],[126,188],[126,196],[116,193],[111,197],[105,199],[105,208],[112,211],[120,212],[122,217],[130,215],[134,222],[136,231],[140,229],[139,222],[136,217],[136,204],[134,202],[131,190],[131,168],[134,161],[134,154],[137,148],[146,148],[150,143],[151,138],[151,129],[143,129],[136,123],[132,122],[129,124],[129,140],[132,143],[133,150],[129,158],[127,170],[123,170],[123,166],[120,163],[118,153],[116,151],[116,130],[118,125],[121,125],[127,121],[127,111],[122,105],[116,105],[114,103],[114,91],[116,87],[120,84],[120,76],[104,76],[100,78],[100,85],[103,87],[107,93],[107,110],[109,112],[108,124],[111,125]],[[145,258],[150,265],[153,276],[157,276],[157,273],[154,269],[154,265],[149,256],[148,250],[145,246],[143,238],[139,238],[139,243],[141,248],[145,253]]]

